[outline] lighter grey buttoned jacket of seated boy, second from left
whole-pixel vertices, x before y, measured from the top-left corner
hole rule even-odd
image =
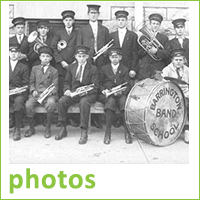
[[[30,76],[30,93],[34,90],[41,94],[47,87],[52,83],[56,86],[52,91],[54,96],[57,95],[57,86],[58,86],[58,72],[57,70],[49,65],[45,73],[42,71],[41,65],[36,65],[32,68]]]

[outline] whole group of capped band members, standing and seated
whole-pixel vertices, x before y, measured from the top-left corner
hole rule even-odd
[[[89,23],[79,29],[74,26],[75,12],[72,10],[61,13],[64,28],[53,36],[49,34],[48,20],[39,20],[36,23],[38,38],[45,45],[39,45],[37,41],[29,43],[24,34],[25,19],[13,19],[16,34],[9,40],[9,89],[29,86],[29,90],[10,95],[9,98],[10,117],[14,119],[14,141],[21,139],[23,113],[26,113],[30,125],[25,137],[35,134],[34,114],[39,105],[38,97],[52,83],[53,90],[42,102],[47,111],[44,137],[51,137],[52,116],[56,108],[61,128],[55,139],[66,137],[66,118],[69,117],[67,110],[71,105],[79,103],[79,144],[87,142],[90,106],[95,101],[100,101],[105,106],[104,143],[111,142],[111,126],[118,109],[124,126],[125,142],[131,144],[132,138],[125,124],[124,109],[126,97],[134,83],[152,76],[158,77],[161,73],[157,72],[162,70],[163,74],[167,73],[168,76],[184,79],[189,83],[189,40],[184,36],[185,19],[172,21],[176,36],[168,40],[167,36],[158,32],[163,17],[158,13],[149,16],[150,31],[164,47],[149,49],[158,58],[155,60],[138,44],[138,35],[127,29],[127,11],[119,10],[115,13],[117,31],[109,34],[109,30],[98,23],[100,6],[87,6]],[[98,51],[111,40],[113,46],[96,58]],[[112,88],[124,83],[125,90],[109,95]],[[92,85],[92,90],[72,97],[77,88],[88,85]],[[186,95],[186,98],[189,99],[189,96]],[[184,140],[189,143],[189,127],[184,132]]]

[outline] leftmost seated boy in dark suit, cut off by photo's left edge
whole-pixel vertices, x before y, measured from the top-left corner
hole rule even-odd
[[[18,57],[20,54],[20,45],[18,43],[9,44],[9,90],[28,87],[28,66],[22,63]],[[20,78],[19,78],[20,77]],[[22,115],[24,113],[24,104],[27,99],[27,92],[18,93],[9,96],[9,126],[14,128],[13,140],[21,139],[20,126]]]

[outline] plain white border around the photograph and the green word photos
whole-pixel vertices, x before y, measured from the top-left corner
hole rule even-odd
[[[92,3],[92,2],[91,2]],[[199,198],[199,2],[190,2],[190,164],[171,165],[50,165],[9,164],[9,101],[8,101],[8,36],[9,2],[1,2],[1,198],[3,199],[68,199],[68,198]],[[31,8],[30,8],[31,9]],[[39,189],[26,189],[26,168],[39,177]],[[57,175],[64,171],[72,174],[95,174],[96,186],[86,189],[60,189]],[[45,189],[41,180],[45,174],[56,177],[53,189]],[[9,193],[10,174],[21,174],[24,182],[20,189]]]

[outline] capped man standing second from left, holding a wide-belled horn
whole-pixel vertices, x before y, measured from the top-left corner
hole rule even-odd
[[[50,46],[52,36],[49,34],[49,21],[47,19],[38,20],[36,22],[36,27],[38,39],[46,46]],[[29,59],[32,67],[40,64],[41,61],[39,58],[38,50],[41,46],[45,45],[39,44],[37,41],[33,41],[30,44]],[[54,59],[51,59],[51,65],[54,66]]]

